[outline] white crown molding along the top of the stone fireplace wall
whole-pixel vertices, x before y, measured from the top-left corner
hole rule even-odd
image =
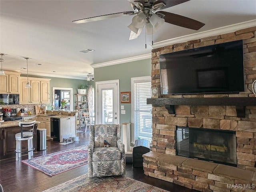
[[[150,45],[152,46],[152,48],[160,48],[160,47],[163,47],[166,45],[172,45],[172,44],[187,42],[190,40],[196,40],[196,39],[200,39],[200,38],[204,38],[204,37],[210,37],[210,36],[230,33],[230,32],[234,32],[234,31],[237,31],[240,29],[253,27],[253,26],[256,26],[256,19],[242,22],[242,23],[232,24],[232,25],[228,25],[228,26],[224,26],[224,27],[215,28],[215,29],[211,29],[208,31],[204,31],[204,32],[198,32],[198,33],[194,33],[194,34],[180,36],[177,38],[172,38],[172,39],[156,42],[153,45],[152,44],[150,44]]]

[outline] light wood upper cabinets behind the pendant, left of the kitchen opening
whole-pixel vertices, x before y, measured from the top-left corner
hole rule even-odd
[[[27,82],[31,88],[25,88]],[[20,104],[49,102],[50,79],[20,77]]]

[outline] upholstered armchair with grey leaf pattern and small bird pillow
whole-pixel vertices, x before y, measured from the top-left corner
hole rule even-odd
[[[120,124],[90,126],[88,177],[125,174],[124,144]]]

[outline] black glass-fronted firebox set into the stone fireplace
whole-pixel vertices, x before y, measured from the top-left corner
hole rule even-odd
[[[237,166],[236,133],[177,126],[177,155]]]

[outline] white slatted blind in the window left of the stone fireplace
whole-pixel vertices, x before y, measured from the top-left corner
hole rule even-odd
[[[147,105],[151,97],[150,82],[134,82],[134,134],[136,139],[152,141],[152,105]]]

